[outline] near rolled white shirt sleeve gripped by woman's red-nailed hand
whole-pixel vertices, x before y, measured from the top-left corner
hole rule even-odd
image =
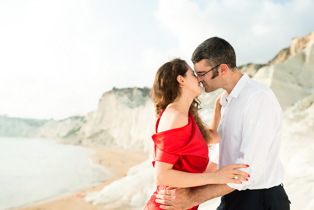
[[[250,97],[244,108],[242,142],[240,146],[241,158],[236,163],[250,165],[249,168],[239,170],[250,174],[248,181],[242,184],[227,183],[231,188],[245,190],[262,173],[269,149],[280,139],[282,130],[282,113],[280,105],[272,92],[257,92]]]

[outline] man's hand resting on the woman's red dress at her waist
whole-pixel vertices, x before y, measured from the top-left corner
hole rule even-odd
[[[161,190],[156,195],[156,202],[160,203],[161,209],[166,210],[185,210],[197,206],[191,200],[191,188],[174,188],[167,187],[166,190]]]

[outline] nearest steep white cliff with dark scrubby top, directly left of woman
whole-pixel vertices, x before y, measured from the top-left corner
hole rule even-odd
[[[80,130],[84,135],[82,144],[150,152],[156,117],[148,91],[128,88],[105,93]]]

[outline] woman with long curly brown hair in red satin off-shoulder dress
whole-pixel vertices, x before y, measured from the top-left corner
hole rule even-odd
[[[156,133],[152,136],[155,143],[154,180],[158,186],[144,210],[160,209],[155,195],[167,186],[240,184],[240,180],[247,180],[248,174],[234,170],[248,167],[245,164],[229,165],[214,173],[206,173],[210,135],[214,134],[198,115],[198,96],[201,94],[202,87],[186,61],[175,58],[158,69],[150,90],[158,117]],[[218,126],[217,116],[213,119],[217,119],[214,123]],[[235,174],[240,175],[237,180]]]

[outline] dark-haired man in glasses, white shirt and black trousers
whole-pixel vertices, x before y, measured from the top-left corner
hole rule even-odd
[[[285,173],[279,159],[282,112],[273,91],[242,74],[233,47],[219,37],[201,43],[192,62],[205,92],[225,90],[217,129],[219,154],[211,157],[208,167],[215,171],[244,163],[250,167],[240,170],[251,176],[242,184],[204,185],[193,190],[170,187],[159,192],[156,202],[163,204],[162,209],[188,209],[222,196],[217,210],[290,209],[281,184]]]

